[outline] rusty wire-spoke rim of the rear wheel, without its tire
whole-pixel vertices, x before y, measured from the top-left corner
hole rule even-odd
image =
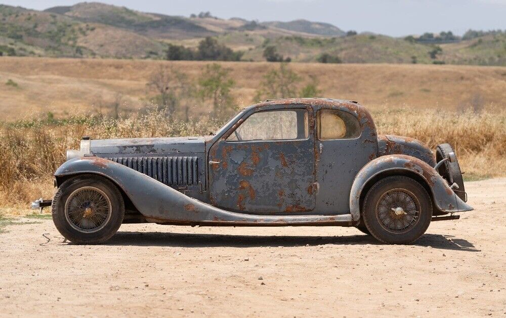
[[[405,233],[418,223],[420,203],[406,189],[391,189],[377,201],[376,218],[385,230],[396,234]]]

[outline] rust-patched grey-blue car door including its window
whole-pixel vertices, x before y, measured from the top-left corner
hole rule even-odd
[[[315,207],[313,110],[252,109],[209,150],[209,201],[228,211],[305,213]]]

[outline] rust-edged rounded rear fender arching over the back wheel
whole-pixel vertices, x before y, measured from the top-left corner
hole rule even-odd
[[[471,206],[460,200],[433,167],[412,156],[392,154],[372,160],[355,177],[350,193],[350,211],[354,221],[360,219],[360,196],[363,189],[374,177],[389,171],[399,171],[400,174],[405,172],[417,174],[431,189],[436,208],[443,212],[473,210]]]

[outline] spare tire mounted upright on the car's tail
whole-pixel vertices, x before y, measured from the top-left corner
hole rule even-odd
[[[462,172],[460,171],[460,166],[458,165],[458,160],[455,156],[453,162],[449,160],[450,152],[455,153],[450,144],[443,143],[437,146],[436,148],[436,162],[440,162],[444,158],[448,158],[444,164],[442,164],[438,168],[439,174],[448,182],[448,185],[452,185],[456,183],[458,185],[458,189],[454,189],[453,191],[462,201],[466,201],[466,191],[464,189],[464,181],[462,179]]]

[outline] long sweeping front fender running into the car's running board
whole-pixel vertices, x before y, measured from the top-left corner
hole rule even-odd
[[[151,177],[100,157],[80,157],[64,163],[56,178],[98,174],[109,178],[130,198],[147,221],[172,224],[220,225],[352,225],[351,215],[269,216],[225,211],[191,198]]]

